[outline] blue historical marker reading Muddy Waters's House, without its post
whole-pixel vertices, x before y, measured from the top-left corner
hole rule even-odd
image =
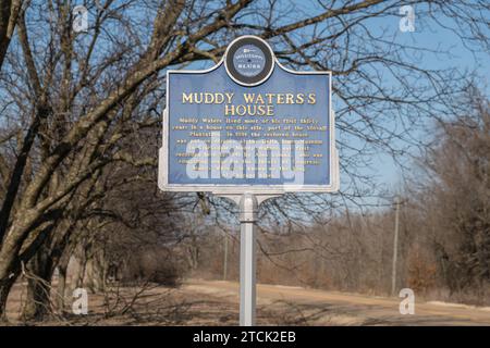
[[[169,71],[159,187],[281,194],[339,187],[331,73],[294,72],[254,36],[206,71]]]

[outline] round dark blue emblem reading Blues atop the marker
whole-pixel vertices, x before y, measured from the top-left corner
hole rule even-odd
[[[273,53],[265,40],[256,36],[242,36],[228,47],[224,65],[235,83],[257,86],[272,73]]]

